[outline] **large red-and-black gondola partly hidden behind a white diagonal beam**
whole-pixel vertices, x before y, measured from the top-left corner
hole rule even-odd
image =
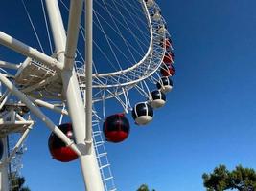
[[[58,128],[70,139],[74,140],[71,123],[64,123],[58,126]],[[69,162],[78,158],[78,155],[65,143],[52,133],[48,139],[48,147],[53,159],[57,159],[61,162]]]

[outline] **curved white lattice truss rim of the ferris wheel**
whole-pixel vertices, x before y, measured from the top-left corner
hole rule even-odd
[[[156,10],[156,11],[159,10],[159,8],[157,7],[157,4],[154,3],[153,8],[148,9],[144,1],[142,1],[141,3],[143,6],[145,15],[147,17],[147,20],[149,21],[149,29],[151,34],[151,42],[150,42],[149,49],[141,61],[134,64],[132,67],[128,69],[114,72],[114,73],[109,73],[109,74],[93,74],[92,87],[94,88],[95,92],[100,92],[102,89],[106,89],[105,99],[123,94],[124,92],[123,89],[128,91],[140,81],[145,80],[146,78],[149,78],[151,74],[155,74],[155,72],[159,69],[161,65],[162,58],[165,53],[165,49],[159,45],[159,42],[161,39],[165,38],[165,33],[158,34],[157,30],[159,25],[161,26],[164,25],[164,20],[162,18],[159,22],[155,22],[151,17],[151,13],[154,12],[152,10]],[[55,25],[58,25],[58,23],[55,23]],[[61,30],[56,30],[56,32],[57,34],[62,33]],[[56,36],[59,37],[59,35],[56,35]],[[61,43],[58,43],[58,44],[61,45]],[[63,53],[63,52],[64,50],[62,49],[62,51],[58,51],[57,54]],[[66,56],[66,60],[70,60],[70,56]],[[39,70],[39,67],[38,67],[38,70]],[[82,78],[82,81],[84,83],[85,82],[85,79],[83,77],[84,71],[83,73],[77,73],[77,74]],[[47,90],[49,90],[48,87],[47,87]],[[100,96],[101,94],[98,94],[98,95],[99,96],[93,96],[94,102],[102,100],[102,97]],[[36,95],[33,95],[33,96],[36,96]],[[51,97],[51,96],[47,95],[46,97]],[[57,98],[56,95],[52,97]]]

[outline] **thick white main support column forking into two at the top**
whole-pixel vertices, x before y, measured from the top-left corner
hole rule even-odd
[[[66,36],[57,0],[46,0],[58,61],[64,62],[62,71],[63,93],[67,99],[68,113],[72,120],[77,145],[81,150],[81,172],[87,191],[104,191],[100,169],[96,159],[92,140],[85,145],[86,126],[85,111],[76,72],[74,57],[76,53],[79,24],[83,0],[71,0],[69,14],[68,36]],[[87,146],[90,146],[87,148]],[[89,153],[91,150],[91,153]]]

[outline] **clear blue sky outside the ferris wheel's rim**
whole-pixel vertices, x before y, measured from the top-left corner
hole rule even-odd
[[[150,125],[132,125],[126,142],[106,148],[121,191],[142,183],[157,191],[200,191],[202,173],[221,163],[256,168],[256,2],[157,2],[174,41],[174,91]],[[24,15],[16,12],[20,4],[12,12],[5,4],[0,29],[13,32]],[[7,14],[17,23],[6,25]],[[82,190],[78,162],[51,159],[48,136],[38,121],[23,157],[28,185],[33,191]]]

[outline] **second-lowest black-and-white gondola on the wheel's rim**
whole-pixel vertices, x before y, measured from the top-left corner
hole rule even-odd
[[[154,90],[151,92],[150,105],[152,108],[163,107],[166,103],[166,96],[160,90]]]

